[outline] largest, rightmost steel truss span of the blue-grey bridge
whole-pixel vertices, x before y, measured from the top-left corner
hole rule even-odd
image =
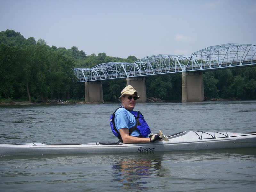
[[[223,44],[192,53],[184,71],[256,65],[256,45]]]

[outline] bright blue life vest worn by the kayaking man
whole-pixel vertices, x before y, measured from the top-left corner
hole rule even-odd
[[[117,109],[119,109],[119,108],[117,108]],[[130,111],[130,110],[128,110],[128,111]],[[130,112],[134,115],[134,117],[136,119],[136,125],[134,127],[132,127],[131,129],[129,129],[129,135],[131,135],[135,129],[138,129],[142,137],[148,137],[148,134],[150,134],[151,131],[150,131],[150,128],[149,128],[147,122],[144,119],[144,116],[140,113],[140,111],[130,111]],[[111,127],[113,134],[118,139],[121,140],[121,135],[117,131],[116,126],[115,126],[115,115],[116,115],[116,111],[109,118],[110,127]]]

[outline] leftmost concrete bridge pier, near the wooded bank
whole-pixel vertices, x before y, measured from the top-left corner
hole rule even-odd
[[[101,81],[85,82],[85,102],[103,102],[103,89]]]

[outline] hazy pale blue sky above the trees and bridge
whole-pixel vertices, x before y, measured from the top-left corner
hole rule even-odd
[[[256,44],[256,0],[0,0],[0,31],[86,55],[190,56]]]

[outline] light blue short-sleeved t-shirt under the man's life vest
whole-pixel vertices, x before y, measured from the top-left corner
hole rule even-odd
[[[119,129],[122,129],[122,128],[131,129],[136,125],[136,119],[132,113],[130,113],[125,108],[121,107],[116,110],[115,125],[118,132],[119,132]],[[132,132],[131,136],[140,136],[139,130],[135,129]]]

